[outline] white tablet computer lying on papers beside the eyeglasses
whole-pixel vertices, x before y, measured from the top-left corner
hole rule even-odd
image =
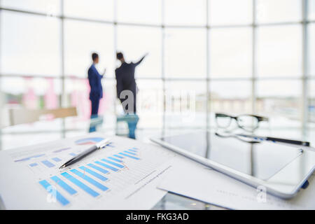
[[[315,152],[268,141],[249,143],[213,132],[151,141],[281,198],[294,197],[314,171]]]

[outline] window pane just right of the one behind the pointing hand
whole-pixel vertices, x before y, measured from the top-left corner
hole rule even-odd
[[[166,77],[206,77],[206,29],[165,29]]]

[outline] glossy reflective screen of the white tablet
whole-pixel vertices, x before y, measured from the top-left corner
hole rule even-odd
[[[302,154],[299,148],[291,146],[268,141],[251,144],[209,132],[164,137],[161,140],[262,180],[269,179]]]

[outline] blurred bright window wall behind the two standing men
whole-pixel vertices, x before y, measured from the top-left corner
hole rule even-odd
[[[214,128],[218,111],[315,138],[315,0],[0,0],[0,34],[1,109],[78,112],[3,127],[2,149],[87,132],[92,52],[107,69],[100,130],[115,133],[116,51],[149,53],[136,71],[138,139]]]

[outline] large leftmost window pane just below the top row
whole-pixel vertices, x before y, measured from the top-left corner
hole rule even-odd
[[[1,12],[1,72],[60,76],[60,20]]]

